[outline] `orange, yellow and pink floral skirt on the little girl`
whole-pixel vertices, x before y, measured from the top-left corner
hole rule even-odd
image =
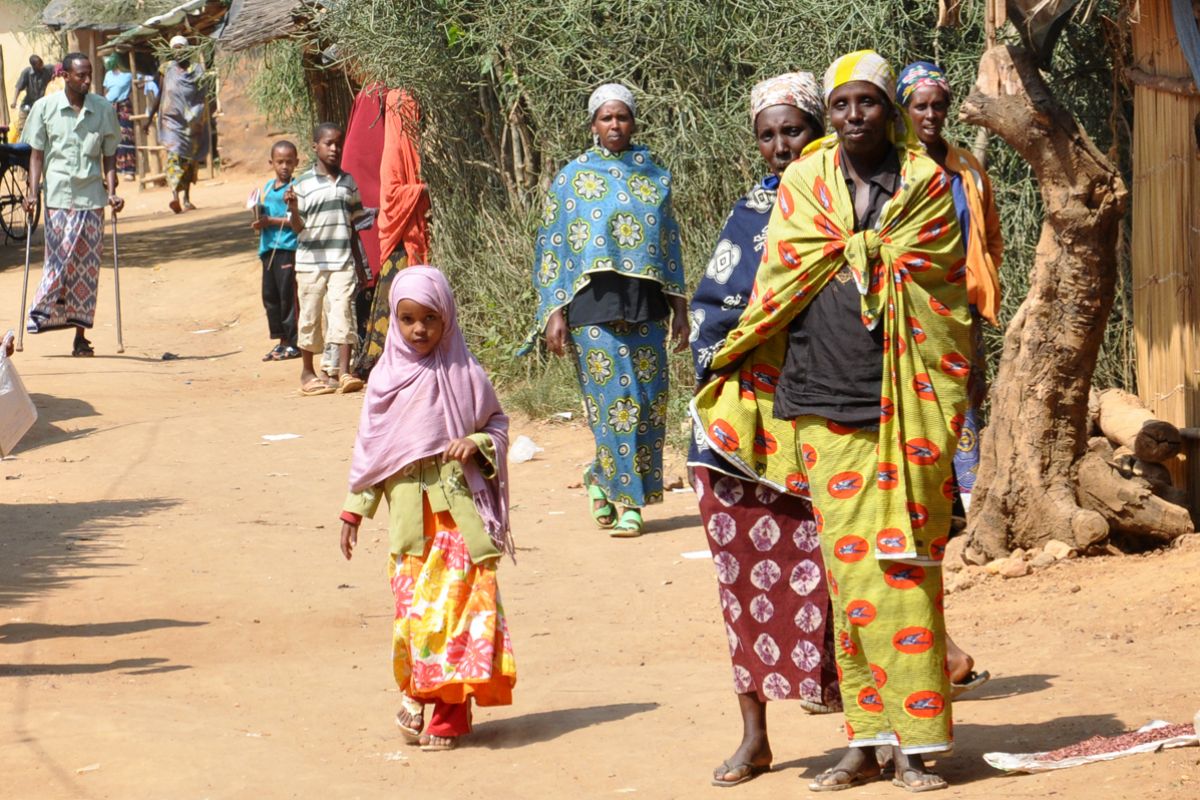
[[[419,702],[510,705],[517,682],[496,564],[473,564],[454,517],[425,506],[425,553],[388,560],[396,599],[391,664]]]

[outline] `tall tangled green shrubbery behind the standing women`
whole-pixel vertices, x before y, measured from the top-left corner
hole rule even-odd
[[[984,49],[982,5],[967,4],[958,30],[935,28],[936,4],[906,0],[356,0],[329,5],[317,25],[356,73],[407,86],[421,102],[434,260],[451,275],[479,356],[502,383],[517,384],[542,369],[541,361],[514,357],[535,303],[533,209],[553,173],[589,144],[592,89],[607,80],[635,89],[637,138],[676,178],[695,285],[732,201],[763,173],[748,119],[756,80],[797,68],[820,79],[834,58],[872,48],[896,68],[938,61],[962,97]],[[1115,14],[1117,5],[1098,7]],[[1111,52],[1094,19],[1072,26],[1051,83],[1108,149]],[[977,131],[955,124],[948,136],[973,144]],[[1124,154],[1127,140],[1120,146]],[[988,164],[1008,242],[1008,320],[1027,290],[1040,198],[1028,166],[996,138]],[[1100,383],[1129,385],[1128,327],[1128,303],[1118,301]],[[990,335],[994,353],[997,336]],[[684,356],[673,373],[679,411],[690,389]],[[574,380],[562,369],[552,374]]]

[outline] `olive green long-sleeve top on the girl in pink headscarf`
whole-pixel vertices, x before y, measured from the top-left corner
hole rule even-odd
[[[479,446],[480,469],[484,477],[496,476],[496,445],[486,433],[467,437]],[[379,500],[388,498],[388,539],[396,555],[425,554],[425,515],[421,495],[430,501],[430,510],[449,511],[467,542],[470,560],[480,564],[500,555],[499,548],[484,529],[484,521],[475,509],[475,500],[467,485],[462,464],[454,459],[443,462],[440,456],[416,461],[383,483],[350,492],[343,511],[361,517],[374,517]]]

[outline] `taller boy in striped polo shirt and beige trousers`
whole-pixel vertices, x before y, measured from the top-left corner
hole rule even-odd
[[[300,393],[306,396],[362,389],[362,381],[350,372],[354,291],[356,278],[364,272],[352,243],[358,236],[354,223],[365,211],[358,185],[349,173],[342,172],[344,136],[334,122],[318,125],[312,136],[317,162],[283,196],[299,243],[295,266],[300,295],[298,344],[304,365]],[[323,330],[322,311],[326,299],[328,330]],[[324,349],[326,339],[338,345],[337,381],[322,378],[313,367],[313,355]]]

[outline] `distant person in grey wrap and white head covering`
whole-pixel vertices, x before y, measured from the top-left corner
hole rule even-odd
[[[187,54],[187,38],[173,36],[168,61],[162,74],[161,95],[150,101],[146,127],[158,115],[158,144],[167,148],[167,185],[170,187],[170,210],[191,211],[192,184],[199,163],[208,158],[209,98],[204,91],[204,66],[192,64]]]

